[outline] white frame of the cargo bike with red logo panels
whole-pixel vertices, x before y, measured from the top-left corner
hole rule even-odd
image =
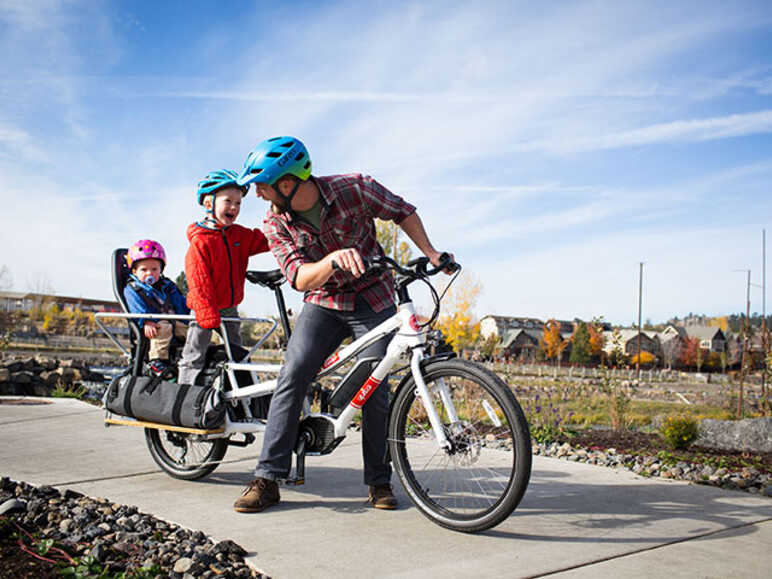
[[[112,335],[109,329],[101,323],[100,319],[151,318],[151,319],[161,319],[161,320],[183,320],[183,321],[191,321],[195,319],[193,316],[174,315],[174,314],[133,314],[133,313],[131,314],[98,313],[94,317],[96,319],[97,324],[102,329],[102,331],[108,335],[108,337],[124,353],[124,355],[129,357],[131,356],[129,351],[122,344],[120,344],[120,342],[118,342],[117,339],[115,339],[115,337]],[[251,362],[237,362],[233,360],[233,354],[231,352],[230,344],[227,339],[228,332],[227,332],[227,328],[225,327],[225,322],[241,322],[241,321],[268,322],[273,324],[272,327],[261,337],[261,339],[254,346],[252,346],[252,348],[250,349],[245,359],[248,359],[249,356],[255,350],[257,350],[257,348],[259,348],[265,342],[265,340],[268,339],[268,337],[273,333],[273,331],[276,329],[276,326],[277,326],[276,321],[265,319],[265,318],[222,318],[223,323],[221,324],[220,329],[224,337],[223,342],[225,344],[225,350],[228,354],[228,360],[224,363],[224,370],[225,370],[226,376],[228,377],[230,390],[225,391],[223,389],[224,385],[222,384],[222,381],[217,382],[216,387],[221,390],[222,398],[227,403],[230,403],[235,406],[237,403],[241,402],[247,418],[245,420],[231,420],[229,413],[226,412],[223,429],[217,433],[202,435],[204,438],[207,438],[207,439],[227,438],[237,433],[253,434],[253,433],[261,432],[265,429],[265,420],[257,419],[252,416],[252,413],[249,409],[249,401],[253,398],[258,398],[261,396],[267,396],[269,394],[272,394],[274,390],[276,390],[276,379],[274,378],[274,379],[265,380],[265,381],[256,381],[255,383],[250,384],[249,386],[239,386],[238,381],[236,380],[235,372],[237,370],[251,372],[252,379],[257,380],[257,376],[256,376],[257,373],[278,374],[279,370],[281,369],[281,365],[258,364],[258,363],[251,363]],[[424,345],[426,343],[426,337],[424,333],[421,332],[421,328],[418,325],[417,317],[415,315],[415,309],[413,307],[412,302],[400,304],[397,310],[397,313],[395,315],[391,316],[389,319],[385,320],[384,322],[382,322],[377,327],[373,328],[363,336],[360,336],[357,340],[355,340],[351,344],[345,346],[341,350],[338,350],[337,352],[332,354],[324,362],[316,378],[317,379],[322,378],[324,376],[327,376],[333,373],[340,366],[342,366],[343,364],[345,364],[346,362],[354,358],[359,352],[364,350],[367,346],[377,342],[378,340],[380,340],[384,336],[387,336],[394,330],[396,330],[396,333],[394,334],[393,338],[389,342],[389,345],[386,349],[386,355],[377,364],[377,366],[372,371],[370,376],[367,378],[365,383],[359,388],[359,391],[351,399],[348,406],[346,406],[346,408],[343,409],[343,411],[340,413],[340,415],[338,415],[337,418],[327,414],[322,415],[320,413],[310,413],[309,412],[310,409],[308,408],[307,405],[305,409],[306,410],[305,414],[307,416],[325,416],[328,420],[330,420],[333,423],[335,438],[343,438],[346,434],[348,427],[351,425],[351,422],[354,419],[354,416],[356,415],[356,413],[362,409],[362,406],[365,404],[365,402],[367,402],[368,398],[372,395],[375,389],[380,386],[381,382],[386,377],[386,375],[397,364],[397,362],[399,361],[399,358],[403,354],[407,353],[409,350],[412,350],[411,359],[410,359],[410,370],[416,384],[418,395],[423,401],[424,408],[428,415],[429,423],[431,424],[431,427],[432,427],[432,432],[434,433],[437,444],[440,446],[440,448],[450,448],[450,443],[447,437],[445,436],[445,431],[443,429],[442,422],[440,420],[439,415],[437,414],[437,410],[434,404],[432,403],[431,393],[429,392],[426,382],[424,381],[423,376],[421,374],[421,362],[424,359]],[[450,420],[450,423],[453,424],[458,422],[458,416],[456,415],[456,411],[450,397],[450,392],[448,391],[444,381],[440,379],[435,384],[436,384],[436,388],[438,390],[440,399],[443,403],[443,406],[445,407],[446,412],[448,412],[448,418]]]

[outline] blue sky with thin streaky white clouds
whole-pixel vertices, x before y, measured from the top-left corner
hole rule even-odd
[[[176,275],[198,180],[279,134],[414,203],[478,316],[630,323],[640,261],[653,321],[761,284],[769,2],[0,0],[0,53],[16,290],[109,298],[111,250],[145,237]]]

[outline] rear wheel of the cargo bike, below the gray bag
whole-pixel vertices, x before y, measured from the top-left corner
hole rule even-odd
[[[196,440],[198,435],[171,430],[145,429],[150,456],[167,474],[182,480],[198,480],[211,474],[228,450],[224,438]]]

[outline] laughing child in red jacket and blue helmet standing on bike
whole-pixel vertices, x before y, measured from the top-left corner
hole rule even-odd
[[[268,251],[268,242],[259,229],[235,223],[249,188],[239,187],[236,178],[234,171],[212,171],[198,184],[198,203],[206,209],[206,217],[188,226],[187,302],[196,321],[188,328],[182,351],[180,384],[195,383],[204,367],[212,330],[220,327],[221,318],[238,317],[236,306],[244,299],[249,256]],[[240,346],[240,324],[224,325],[228,341]]]

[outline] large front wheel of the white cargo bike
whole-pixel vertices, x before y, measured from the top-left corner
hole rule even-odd
[[[435,523],[489,529],[515,510],[531,476],[528,423],[493,372],[464,360],[428,364],[423,378],[450,448],[439,448],[412,377],[397,392],[389,450],[410,499]]]

